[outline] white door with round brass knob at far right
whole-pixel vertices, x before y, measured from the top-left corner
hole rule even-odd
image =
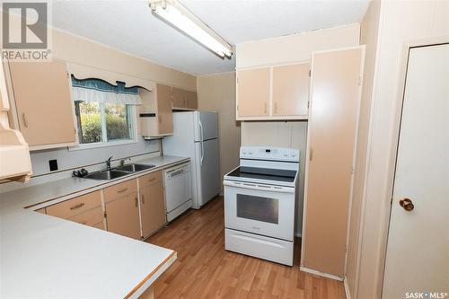
[[[401,207],[404,198],[409,199]],[[383,299],[448,297],[448,229],[449,45],[445,44],[409,52]]]

